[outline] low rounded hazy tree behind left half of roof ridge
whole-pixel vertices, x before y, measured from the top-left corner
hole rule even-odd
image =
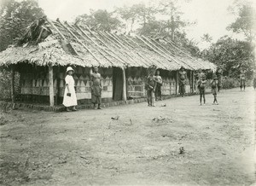
[[[113,13],[103,9],[96,11],[91,9],[90,15],[79,15],[75,21],[79,22],[79,24],[90,26],[92,29],[96,28],[97,30],[110,32],[122,27],[121,21],[113,17]]]

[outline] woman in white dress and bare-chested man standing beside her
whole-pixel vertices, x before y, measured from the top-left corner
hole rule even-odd
[[[72,67],[67,67],[67,76],[65,78],[66,86],[63,96],[63,105],[67,108],[67,112],[76,111],[78,105],[73,79],[74,70]],[[101,74],[98,73],[98,67],[90,69],[90,90],[91,102],[94,109],[102,109],[102,84]]]

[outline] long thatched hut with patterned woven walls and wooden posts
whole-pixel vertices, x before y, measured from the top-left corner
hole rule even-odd
[[[160,69],[163,95],[178,93],[180,67],[188,72],[187,92],[194,91],[195,70],[215,69],[165,39],[96,31],[46,17],[34,21],[14,46],[0,53],[0,66],[20,73],[21,101],[50,106],[61,103],[67,66],[75,69],[77,97],[83,104],[90,102],[90,67],[100,67],[103,102],[111,102],[145,96],[144,81],[152,65]]]

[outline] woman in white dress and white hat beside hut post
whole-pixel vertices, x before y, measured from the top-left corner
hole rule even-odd
[[[74,80],[73,80],[73,68],[67,67],[67,76],[65,78],[66,86],[63,96],[63,105],[67,108],[67,112],[76,111],[75,106],[78,105],[76,92],[74,89]]]

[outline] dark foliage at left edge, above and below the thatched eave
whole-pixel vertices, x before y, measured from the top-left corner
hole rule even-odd
[[[33,20],[44,15],[43,9],[33,0],[17,2],[15,0],[2,0],[0,2],[0,51],[9,44],[15,43],[15,38],[20,38],[27,26]],[[10,98],[10,72],[0,68],[0,99]],[[19,91],[19,74],[15,75],[15,91]]]

